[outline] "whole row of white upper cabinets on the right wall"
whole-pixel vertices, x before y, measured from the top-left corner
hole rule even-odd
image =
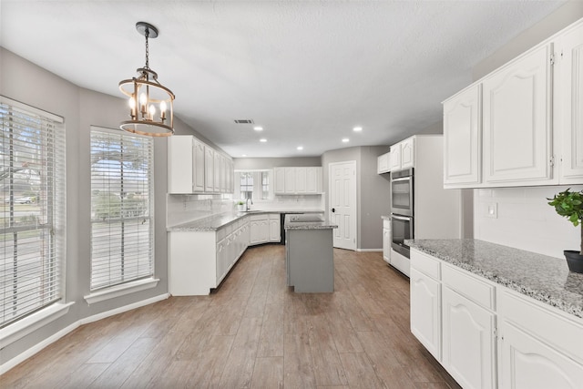
[[[445,188],[583,184],[582,58],[580,20],[445,100]]]

